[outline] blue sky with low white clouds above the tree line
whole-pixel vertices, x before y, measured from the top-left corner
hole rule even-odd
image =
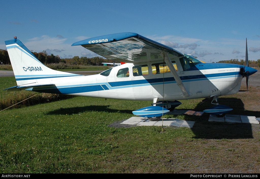
[[[260,1],[0,0],[0,48],[21,40],[29,50],[97,56],[74,42],[134,32],[198,60],[260,59]]]

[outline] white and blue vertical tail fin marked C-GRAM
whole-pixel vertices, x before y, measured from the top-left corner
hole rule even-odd
[[[5,41],[18,86],[49,84],[51,78],[80,76],[44,66],[16,37]]]

